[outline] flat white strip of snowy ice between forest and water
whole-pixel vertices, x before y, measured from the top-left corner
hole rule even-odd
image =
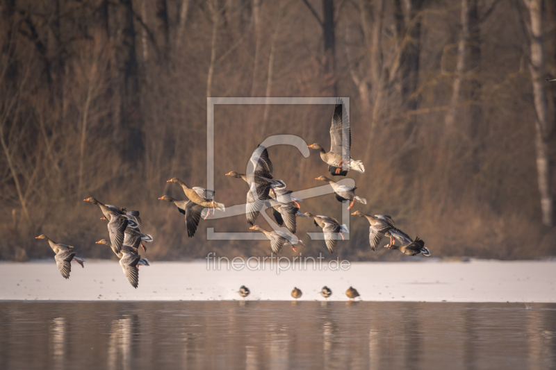
[[[206,261],[152,262],[140,268],[133,289],[120,264],[88,260],[85,268],[72,264],[65,280],[54,259],[40,262],[1,262],[0,301],[220,301],[243,300],[240,285],[251,290],[247,300],[324,301],[320,288],[332,289],[329,301],[347,301],[352,286],[363,301],[536,302],[556,303],[556,261],[470,262],[351,262],[349,269],[295,270],[243,268],[220,270]],[[284,266],[283,266],[284,267]],[[358,298],[359,300],[359,298]]]

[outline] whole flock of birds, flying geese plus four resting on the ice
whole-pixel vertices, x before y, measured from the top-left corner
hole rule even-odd
[[[343,109],[343,101],[339,100],[334,108],[334,115],[332,116],[332,126],[330,127],[331,149],[326,152],[319,144],[311,144],[309,148],[318,150],[320,158],[328,165],[328,170],[332,176],[346,176],[347,172],[353,169],[361,174],[365,172],[363,163],[360,160],[353,160],[349,157],[349,162],[344,161],[343,158],[347,157],[347,153],[351,151],[351,129],[348,124],[347,114]],[[268,151],[264,146],[259,145],[253,152],[250,158],[253,167],[249,174],[240,174],[236,171],[230,171],[226,175],[234,178],[241,178],[249,186],[247,191],[246,203],[246,216],[247,223],[250,224],[252,230],[257,230],[263,233],[270,239],[270,248],[272,252],[277,254],[281,251],[283,246],[291,246],[293,251],[297,251],[295,246],[297,244],[305,245],[302,240],[295,236],[297,232],[297,217],[312,218],[317,227],[322,228],[324,234],[325,244],[330,253],[334,253],[336,244],[341,237],[344,239],[342,233],[349,233],[347,227],[340,224],[338,220],[333,217],[325,215],[314,215],[311,212],[300,212],[300,201],[302,199],[292,196],[291,190],[286,190],[286,183],[283,180],[275,180],[272,178],[273,166]],[[251,166],[250,165],[250,166]],[[349,187],[346,185],[338,185],[334,180],[325,176],[319,176],[316,180],[329,183],[334,190],[334,194],[338,201],[349,201],[349,209],[354,207],[354,203],[362,203],[366,205],[367,201],[355,194],[357,187]],[[186,228],[188,237],[193,237],[199,221],[212,217],[215,211],[224,211],[224,204],[218,203],[214,200],[215,192],[213,190],[206,190],[202,187],[188,187],[179,178],[172,178],[167,180],[168,183],[174,183],[181,186],[187,200],[180,201],[172,198],[171,196],[161,196],[160,200],[174,203],[179,212],[185,215]],[[149,266],[149,261],[146,258],[141,258],[138,253],[140,247],[146,252],[145,242],[152,242],[151,235],[143,234],[140,231],[141,219],[138,211],[128,212],[125,208],[120,208],[115,205],[104,204],[95,198],[84,199],[92,204],[99,206],[103,213],[104,219],[108,221],[108,235],[109,241],[101,239],[97,244],[104,244],[110,246],[112,251],[120,259],[120,265],[124,271],[124,275],[129,280],[133,287],[138,287],[139,283],[139,266]],[[288,230],[265,230],[259,225],[255,224],[260,212],[265,208],[272,210],[272,215],[277,221],[279,226],[284,226]],[[370,224],[369,226],[369,242],[370,248],[375,251],[383,237],[389,237],[390,243],[385,246],[389,249],[397,249],[406,255],[425,255],[429,256],[430,252],[425,248],[425,242],[416,237],[411,239],[409,235],[405,234],[398,228],[395,228],[394,220],[387,215],[367,215],[359,210],[352,213],[359,217],[366,218]],[[58,244],[46,235],[40,235],[36,239],[45,239],[49,242],[51,249],[56,253],[54,259],[60,273],[64,278],[70,277],[72,269],[71,262],[76,261],[84,267],[83,258],[76,256],[73,246],[65,244]],[[398,241],[400,244],[395,244]],[[249,295],[249,289],[245,287],[240,288],[240,295]],[[348,294],[349,293],[349,294]],[[293,289],[291,295],[293,298],[300,298],[302,292],[300,289]],[[322,296],[327,298],[332,292],[323,287]],[[327,295],[328,294],[328,295]],[[357,290],[347,289],[347,296],[350,299],[359,296]]]

